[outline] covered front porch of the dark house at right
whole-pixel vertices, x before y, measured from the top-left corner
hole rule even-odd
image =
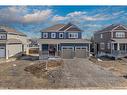
[[[127,56],[127,40],[116,39],[111,42],[111,54],[116,58]]]

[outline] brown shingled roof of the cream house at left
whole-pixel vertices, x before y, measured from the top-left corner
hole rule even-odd
[[[17,35],[21,35],[21,36],[27,36],[26,34],[24,34],[22,32],[18,32],[15,29],[6,27],[6,26],[0,26],[0,32],[7,32],[7,33],[17,34]]]

